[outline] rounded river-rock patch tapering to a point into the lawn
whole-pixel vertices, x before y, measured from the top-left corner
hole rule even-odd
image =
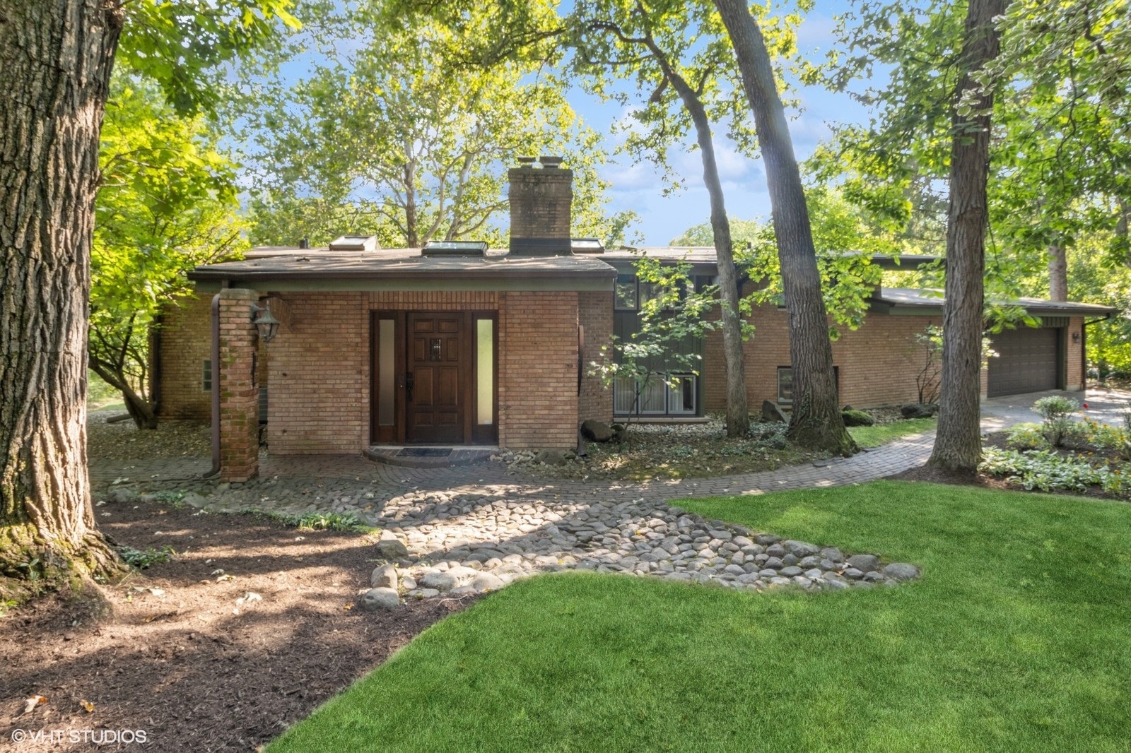
[[[379,548],[397,570],[378,568],[363,601],[497,590],[516,579],[567,569],[653,575],[762,591],[893,586],[918,577],[906,563],[835,546],[783,540],[644,500],[546,501],[503,490],[476,495],[406,494],[381,516]],[[399,581],[399,582],[398,582]]]

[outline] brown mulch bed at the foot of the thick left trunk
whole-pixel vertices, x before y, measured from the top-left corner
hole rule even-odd
[[[256,750],[474,600],[361,612],[354,599],[377,556],[361,534],[157,504],[106,503],[96,513],[118,544],[178,554],[119,583],[42,596],[0,618],[3,743],[17,729],[140,729],[149,750]],[[261,598],[248,600],[249,592]],[[48,702],[24,713],[31,695]],[[67,736],[18,750],[95,747]]]

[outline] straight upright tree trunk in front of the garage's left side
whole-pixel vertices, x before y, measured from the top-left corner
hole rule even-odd
[[[950,211],[947,218],[947,291],[942,320],[942,390],[932,466],[974,474],[982,458],[979,434],[985,272],[986,180],[990,173],[992,89],[974,76],[998,57],[1000,33],[994,18],[1007,0],[970,0],[962,42],[962,79],[955,97],[950,150]],[[958,106],[976,92],[976,106]],[[967,112],[967,114],[962,114]]]

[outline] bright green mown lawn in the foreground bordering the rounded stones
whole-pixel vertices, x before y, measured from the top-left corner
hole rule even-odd
[[[759,596],[535,578],[269,751],[1129,750],[1131,505],[897,482],[682,505],[923,579]]]

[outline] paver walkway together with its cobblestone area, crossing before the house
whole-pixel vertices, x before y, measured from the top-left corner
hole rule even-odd
[[[351,512],[382,529],[378,549],[397,568],[381,583],[383,601],[501,588],[516,578],[563,569],[627,572],[761,591],[896,583],[913,565],[884,566],[873,555],[835,546],[780,542],[722,521],[685,514],[671,500],[761,494],[870,481],[922,464],[933,433],[907,436],[852,458],[767,473],[644,483],[532,479],[502,462],[455,468],[402,468],[361,456],[264,458],[260,477],[242,485],[193,479],[206,459],[93,462],[97,493],[196,488],[190,504],[287,513]],[[176,536],[174,534],[173,536]],[[176,548],[179,542],[170,540]],[[378,581],[374,581],[378,582]]]

